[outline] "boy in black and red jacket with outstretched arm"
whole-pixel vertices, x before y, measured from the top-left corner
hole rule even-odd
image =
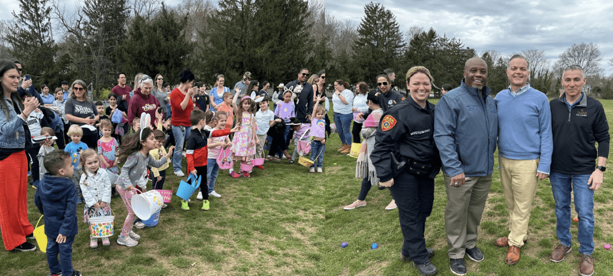
[[[186,158],[188,159],[188,172],[196,177],[206,177],[207,175],[207,158],[208,147],[207,142],[210,137],[227,136],[230,133],[238,131],[238,126],[234,129],[224,129],[218,131],[203,130],[207,125],[206,115],[200,109],[194,109],[189,115],[189,120],[192,123],[191,134],[189,134],[186,142]],[[203,193],[204,192],[204,193]],[[208,210],[210,205],[208,202],[208,186],[200,184],[200,191],[197,199],[203,200],[202,210]],[[181,201],[181,209],[189,210],[188,201]]]

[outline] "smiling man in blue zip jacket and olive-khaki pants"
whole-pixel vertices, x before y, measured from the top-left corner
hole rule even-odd
[[[463,75],[460,87],[438,101],[434,117],[434,140],[447,190],[447,255],[455,275],[466,274],[465,253],[473,261],[484,259],[475,242],[492,185],[498,133],[496,103],[485,86],[487,64],[478,57],[468,59]]]

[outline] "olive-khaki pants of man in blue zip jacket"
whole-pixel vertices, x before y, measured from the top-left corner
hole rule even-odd
[[[447,191],[445,207],[445,230],[447,232],[447,255],[452,259],[464,258],[466,249],[474,247],[479,236],[478,228],[485,208],[487,194],[492,185],[492,175],[471,177],[458,188],[449,186],[451,177],[444,175]]]

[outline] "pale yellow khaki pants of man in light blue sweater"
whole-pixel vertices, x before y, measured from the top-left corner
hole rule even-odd
[[[504,201],[509,210],[509,245],[522,247],[528,232],[530,210],[532,201],[535,199],[536,187],[538,186],[539,159],[514,160],[504,158],[498,154],[500,164],[500,182],[504,192]]]

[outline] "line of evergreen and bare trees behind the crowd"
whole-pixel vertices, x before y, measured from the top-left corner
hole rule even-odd
[[[400,30],[382,4],[364,7],[359,25],[326,14],[324,0],[83,0],[67,11],[58,0],[18,0],[12,21],[0,21],[0,58],[17,58],[34,84],[59,86],[83,79],[94,93],[116,83],[116,73],[162,74],[176,84],[186,67],[201,83],[218,74],[232,86],[249,71],[273,83],[295,79],[302,67],[326,69],[329,80],[367,82],[374,88],[384,69],[403,72],[422,65],[435,85],[458,86],[466,59],[481,56],[489,66],[488,85],[497,92],[509,83],[504,70],[511,55],[477,53],[460,38],[413,26]],[[54,24],[52,24],[52,22]],[[55,37],[54,37],[55,34]],[[560,70],[584,67],[592,91],[613,98],[612,77],[600,67],[598,45],[572,45],[551,64],[543,50],[521,52],[530,63],[530,83],[550,95],[560,90]],[[613,59],[609,61],[613,65]],[[331,82],[329,82],[331,85]]]

